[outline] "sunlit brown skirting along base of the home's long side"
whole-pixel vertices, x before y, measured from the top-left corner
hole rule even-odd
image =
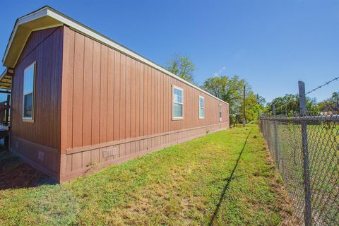
[[[126,162],[228,127],[229,123],[226,122],[67,150],[66,153],[61,154],[60,182],[67,182],[73,178],[96,172],[108,165]]]

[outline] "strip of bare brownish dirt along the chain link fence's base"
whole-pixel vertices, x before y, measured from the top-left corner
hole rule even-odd
[[[270,189],[272,189],[275,194],[278,194],[275,199],[275,203],[273,203],[273,208],[275,208],[275,210],[279,210],[279,215],[282,220],[280,225],[302,225],[297,216],[294,214],[295,210],[292,206],[291,199],[287,195],[283,181],[280,179],[279,173],[275,171],[274,162],[268,153],[268,148],[265,148],[264,151],[268,154],[266,155],[266,162],[268,165],[272,166],[270,167],[270,170],[272,170],[272,174],[274,175],[274,177],[270,179]]]

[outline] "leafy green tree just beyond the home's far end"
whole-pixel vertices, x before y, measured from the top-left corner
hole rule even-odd
[[[242,121],[243,93],[246,85],[246,121],[258,119],[258,112],[263,112],[265,100],[254,95],[251,86],[238,76],[208,78],[201,88],[230,104],[230,123]]]

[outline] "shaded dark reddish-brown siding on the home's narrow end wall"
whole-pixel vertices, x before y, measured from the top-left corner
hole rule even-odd
[[[52,172],[59,171],[63,30],[59,27],[32,32],[18,59],[12,81],[11,149]],[[34,61],[34,122],[25,122],[23,72]],[[37,160],[38,150],[44,152],[43,161]]]

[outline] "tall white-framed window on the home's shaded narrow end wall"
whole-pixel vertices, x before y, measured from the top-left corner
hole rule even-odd
[[[23,120],[33,120],[34,114],[35,62],[23,73]]]

